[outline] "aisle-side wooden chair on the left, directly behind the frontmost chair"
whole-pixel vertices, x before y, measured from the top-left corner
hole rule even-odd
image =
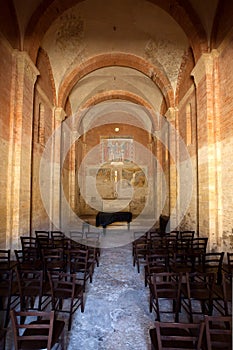
[[[68,330],[70,330],[74,312],[79,307],[81,312],[84,312],[84,284],[77,282],[76,274],[49,271],[48,276],[52,292],[52,309],[69,314]]]

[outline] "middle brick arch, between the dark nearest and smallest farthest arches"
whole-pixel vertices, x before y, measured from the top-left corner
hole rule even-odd
[[[167,106],[174,106],[174,94],[167,76],[145,59],[122,52],[94,56],[76,67],[66,76],[58,91],[58,105],[63,107],[74,85],[85,75],[104,67],[120,66],[138,70],[148,76],[161,90]]]

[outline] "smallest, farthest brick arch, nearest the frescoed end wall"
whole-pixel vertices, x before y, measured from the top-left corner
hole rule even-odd
[[[156,115],[156,111],[153,110],[153,107],[150,105],[150,103],[147,102],[142,97],[124,90],[105,91],[89,98],[79,108],[79,113],[78,113],[79,124],[82,121],[82,114],[85,109],[88,109],[104,101],[116,100],[116,99],[129,101],[144,107],[148,111],[148,116],[151,119],[152,132],[154,132],[157,129],[156,124],[158,123],[158,118]]]

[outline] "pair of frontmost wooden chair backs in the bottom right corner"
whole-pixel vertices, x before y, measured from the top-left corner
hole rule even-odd
[[[151,350],[232,349],[232,317],[208,316],[198,323],[155,322]]]

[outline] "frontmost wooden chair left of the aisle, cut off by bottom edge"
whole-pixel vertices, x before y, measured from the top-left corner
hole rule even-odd
[[[28,318],[37,318],[36,321],[28,322]],[[20,324],[19,319],[26,319]],[[51,350],[55,344],[64,346],[65,322],[55,319],[54,311],[24,311],[11,310],[11,322],[14,335],[15,350]]]

